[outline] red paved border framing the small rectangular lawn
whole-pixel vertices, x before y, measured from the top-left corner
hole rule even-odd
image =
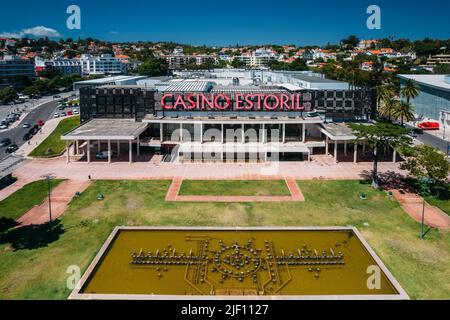
[[[257,179],[256,176],[248,177],[245,180],[277,180],[277,179]],[[216,179],[217,180],[217,179]],[[239,180],[239,179],[232,179]],[[281,180],[281,179],[279,179]],[[175,178],[167,190],[166,201],[180,202],[292,202],[305,201],[297,182],[294,179],[285,179],[286,185],[291,193],[290,196],[180,196],[180,188],[183,183],[182,178]]]

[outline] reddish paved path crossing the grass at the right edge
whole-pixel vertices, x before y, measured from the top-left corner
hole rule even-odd
[[[411,218],[417,222],[422,222],[422,197],[414,193],[401,192],[399,190],[393,190],[392,193],[402,206],[403,210],[407,212]],[[449,229],[450,217],[439,208],[426,203],[425,224],[433,228]]]

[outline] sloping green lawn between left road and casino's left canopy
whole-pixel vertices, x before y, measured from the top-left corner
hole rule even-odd
[[[61,155],[66,148],[66,142],[61,140],[61,135],[73,130],[79,125],[79,116],[61,120],[55,130],[30,153],[30,156],[55,157]]]

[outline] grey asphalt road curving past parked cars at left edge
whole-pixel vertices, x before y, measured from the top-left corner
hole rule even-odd
[[[53,114],[55,113],[57,107],[58,101],[51,101],[35,108],[34,110],[30,111],[25,116],[25,118],[23,118],[23,120],[17,127],[0,132],[0,140],[9,138],[13,143],[17,144],[19,147],[24,143],[27,143],[27,141],[23,141],[23,136],[30,129],[22,128],[22,124],[27,122],[31,126],[34,126],[35,124],[37,124],[39,119],[42,119],[45,122],[51,117],[53,117]],[[0,160],[8,155],[7,153],[5,153],[6,148],[7,147],[0,147]]]

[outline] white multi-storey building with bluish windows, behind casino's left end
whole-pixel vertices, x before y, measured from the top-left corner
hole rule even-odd
[[[125,74],[125,64],[110,54],[92,56],[83,54],[80,58],[83,75],[91,74]]]

